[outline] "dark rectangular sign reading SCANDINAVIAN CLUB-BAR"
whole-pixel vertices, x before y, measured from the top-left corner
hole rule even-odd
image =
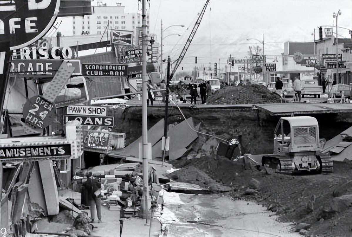
[[[127,72],[127,65],[82,63],[83,76],[127,76]]]

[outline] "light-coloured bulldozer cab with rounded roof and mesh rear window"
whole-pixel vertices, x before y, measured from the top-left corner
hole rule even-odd
[[[319,125],[314,117],[282,117],[274,134],[274,154],[320,150]]]

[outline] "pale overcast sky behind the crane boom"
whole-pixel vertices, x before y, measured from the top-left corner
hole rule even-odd
[[[112,0],[107,0],[111,1]],[[96,0],[93,2],[95,4]],[[138,11],[137,0],[120,0],[125,12]],[[164,55],[176,60],[186,42],[205,0],[151,0],[150,32],[160,40],[161,19],[164,29],[170,25],[182,24],[186,27],[172,27],[164,32],[180,33],[182,37],[169,36],[164,40]],[[141,4],[139,4],[141,7]],[[140,8],[139,8],[140,9]],[[211,11],[209,12],[209,10]],[[200,27],[191,43],[184,60],[194,63],[225,62],[230,56],[243,58],[248,56],[248,47],[259,45],[264,33],[265,55],[281,57],[284,42],[313,42],[319,38],[318,26],[332,25],[335,29],[333,12],[341,9],[338,26],[352,29],[351,0],[211,0]],[[187,27],[189,27],[188,30]],[[351,37],[348,30],[339,29],[339,37]],[[188,57],[188,58],[187,58]],[[190,65],[190,64],[189,64]],[[190,65],[191,66],[191,65]]]

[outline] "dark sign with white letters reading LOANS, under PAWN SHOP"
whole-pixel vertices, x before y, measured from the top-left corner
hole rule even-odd
[[[79,125],[90,125],[90,126],[114,126],[114,117],[112,116],[86,116],[86,115],[71,115],[64,114],[64,122],[67,121],[79,121]]]

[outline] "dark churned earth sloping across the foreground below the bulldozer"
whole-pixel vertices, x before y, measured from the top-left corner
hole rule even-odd
[[[257,200],[283,222],[312,224],[310,234],[352,236],[352,208],[348,209],[352,206],[351,162],[334,162],[333,174],[299,176],[259,171],[244,164],[243,159],[230,161],[217,156],[172,163],[182,168],[171,173],[182,182],[195,183],[195,172],[206,174],[216,183],[231,187],[234,199]]]

